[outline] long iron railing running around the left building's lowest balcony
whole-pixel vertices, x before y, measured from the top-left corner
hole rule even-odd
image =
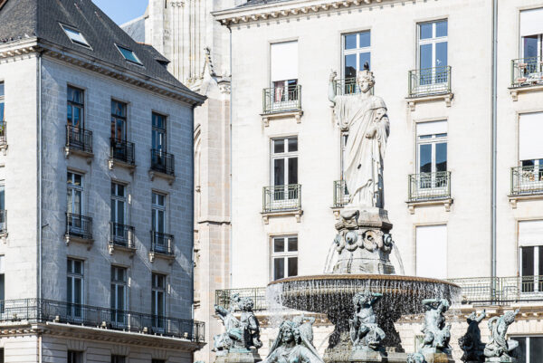
[[[56,322],[205,342],[205,323],[43,299],[0,301],[0,322]]]

